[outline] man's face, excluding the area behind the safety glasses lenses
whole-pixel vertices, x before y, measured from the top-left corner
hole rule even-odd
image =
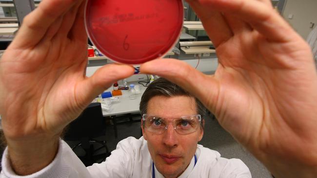
[[[161,116],[168,121],[196,115],[195,99],[188,96],[155,96],[148,102],[147,114]],[[166,178],[177,177],[185,171],[203,135],[200,126],[191,134],[180,135],[171,124],[162,134],[149,132],[143,127],[142,132],[156,168]]]

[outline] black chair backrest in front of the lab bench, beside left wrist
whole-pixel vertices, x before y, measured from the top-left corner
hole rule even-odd
[[[79,117],[66,128],[64,140],[74,141],[105,135],[105,120],[100,103],[91,103]]]

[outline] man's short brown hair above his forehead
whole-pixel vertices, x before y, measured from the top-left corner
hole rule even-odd
[[[206,109],[202,105],[202,103],[195,98],[193,95],[191,95],[186,90],[182,89],[175,83],[172,83],[168,81],[165,78],[158,78],[155,81],[153,81],[147,89],[145,89],[140,102],[140,112],[141,115],[146,114],[147,112],[147,106],[148,102],[151,98],[155,96],[166,96],[166,97],[173,97],[173,96],[188,96],[193,97],[195,99],[195,106],[197,109],[197,113],[201,116],[205,115]],[[203,122],[201,122],[201,125],[203,126]]]

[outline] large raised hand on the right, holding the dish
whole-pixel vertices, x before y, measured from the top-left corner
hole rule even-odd
[[[214,75],[178,60],[141,72],[187,89],[276,177],[317,175],[317,72],[311,49],[270,0],[188,0],[213,41]]]

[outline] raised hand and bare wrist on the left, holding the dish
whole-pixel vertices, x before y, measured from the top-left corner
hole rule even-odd
[[[85,0],[43,0],[0,59],[2,127],[18,174],[49,164],[62,129],[111,83],[134,72],[106,65],[85,77],[84,6]]]

